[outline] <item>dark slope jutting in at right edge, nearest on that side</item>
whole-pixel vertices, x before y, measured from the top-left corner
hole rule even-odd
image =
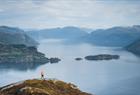
[[[140,56],[140,40],[137,40],[125,47],[128,51]]]

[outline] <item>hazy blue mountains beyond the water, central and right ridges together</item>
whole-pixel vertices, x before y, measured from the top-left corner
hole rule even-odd
[[[125,47],[140,38],[140,25],[112,27],[108,29],[85,29],[64,27],[27,32],[34,39],[67,39],[69,42],[85,42],[100,46]]]

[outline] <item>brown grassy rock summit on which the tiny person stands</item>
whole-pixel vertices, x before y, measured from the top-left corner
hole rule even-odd
[[[60,80],[26,80],[0,88],[0,95],[92,95]]]

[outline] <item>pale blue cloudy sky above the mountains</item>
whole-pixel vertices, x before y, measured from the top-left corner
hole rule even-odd
[[[140,0],[0,0],[0,25],[38,29],[140,25]]]

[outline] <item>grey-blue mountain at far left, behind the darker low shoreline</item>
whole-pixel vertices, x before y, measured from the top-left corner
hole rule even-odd
[[[0,26],[0,43],[24,44],[36,46],[38,43],[29,37],[23,30],[14,27]]]

